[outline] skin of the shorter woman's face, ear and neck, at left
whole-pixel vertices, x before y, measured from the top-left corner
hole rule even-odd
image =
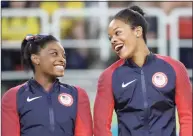
[[[31,60],[35,67],[34,78],[46,91],[49,91],[57,77],[64,75],[66,56],[65,50],[59,42],[47,43],[38,54],[31,55]]]

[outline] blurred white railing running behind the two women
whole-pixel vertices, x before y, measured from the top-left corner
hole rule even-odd
[[[81,9],[81,10],[64,10],[64,9],[59,9],[57,11],[55,11],[55,13],[53,14],[52,17],[52,24],[49,24],[49,20],[48,20],[48,14],[41,10],[41,9],[2,9],[2,16],[3,17],[21,17],[21,16],[37,16],[41,19],[41,33],[49,33],[52,32],[52,34],[54,34],[56,37],[59,37],[59,21],[60,18],[62,16],[71,16],[71,17],[77,17],[77,16],[83,16],[83,17],[93,17],[93,16],[99,16],[100,18],[100,28],[101,28],[101,32],[100,32],[100,36],[99,39],[91,39],[91,40],[86,40],[86,42],[90,42],[90,46],[80,46],[80,47],[76,47],[76,46],[71,46],[69,43],[74,42],[73,40],[64,40],[65,42],[65,48],[101,48],[101,59],[106,59],[106,57],[109,57],[110,54],[110,45],[109,42],[107,41],[107,39],[105,39],[107,37],[106,34],[106,27],[108,25],[108,18],[113,16],[117,11],[119,11],[120,9],[105,9],[103,11],[103,9],[96,9],[96,8],[89,8],[89,9]],[[158,48],[158,53],[162,54],[162,55],[168,55],[167,52],[167,36],[166,36],[166,24],[168,22],[168,20],[172,20],[170,22],[171,25],[171,29],[172,29],[172,42],[171,42],[171,56],[178,59],[179,58],[179,39],[177,34],[178,32],[178,27],[177,27],[177,18],[179,16],[192,16],[192,12],[190,12],[191,10],[189,9],[176,9],[175,11],[172,12],[172,14],[167,17],[163,11],[161,9],[157,9],[157,8],[148,8],[145,9],[145,12],[149,15],[149,16],[156,16],[158,18],[158,39],[157,40],[150,40],[150,42],[148,43],[149,47],[157,47]],[[51,26],[51,28],[49,28]],[[57,27],[58,26],[58,27]],[[181,40],[180,40],[181,41]],[[20,46],[19,44],[16,44],[15,42],[12,43],[12,46],[9,46],[8,44],[10,44],[10,42],[6,43],[5,41],[2,42],[2,47],[3,49],[19,49]],[[187,45],[188,47],[190,47],[189,45]],[[85,74],[85,72],[90,71],[91,74],[87,75]],[[65,80],[65,81],[73,81],[76,83],[81,83],[83,84],[83,86],[86,83],[89,83],[93,80],[93,82],[95,83],[96,78],[95,77],[99,77],[99,73],[100,72],[94,72],[94,71],[101,71],[101,70],[95,70],[95,69],[91,69],[91,70],[81,70],[81,72],[79,72],[79,74],[76,74],[76,72],[78,71],[74,71],[70,72],[70,70],[66,70],[66,74],[64,76],[64,78],[62,78],[61,80]],[[69,74],[68,74],[69,73]],[[72,73],[75,73],[75,77],[73,80],[71,76]],[[69,76],[68,76],[69,75]],[[25,72],[20,72],[20,71],[7,71],[7,72],[2,72],[2,80],[24,80],[24,79],[29,79],[32,76],[32,73],[30,74],[26,74]],[[78,78],[78,76],[84,77],[84,78]],[[189,76],[192,76],[192,71],[189,70]],[[92,78],[92,80],[90,80],[90,78]],[[88,86],[90,86],[90,84],[88,84]],[[91,85],[90,89],[88,90],[96,90],[96,84],[95,85]]]

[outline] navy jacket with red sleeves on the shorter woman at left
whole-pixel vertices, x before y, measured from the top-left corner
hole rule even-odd
[[[30,79],[2,99],[2,136],[92,136],[88,96],[58,80],[46,92]]]

